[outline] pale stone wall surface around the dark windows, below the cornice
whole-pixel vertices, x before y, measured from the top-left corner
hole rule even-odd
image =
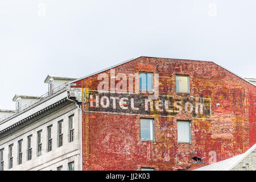
[[[73,142],[68,142],[68,117],[74,114],[75,136]],[[57,122],[63,119],[63,146],[57,147]],[[47,152],[47,126],[52,125],[52,151]],[[42,155],[37,156],[37,132],[42,130]],[[27,161],[27,137],[32,134],[32,159]],[[18,141],[22,143],[22,164],[18,165]],[[13,168],[9,169],[9,145],[13,148]],[[54,111],[46,117],[35,121],[32,125],[24,127],[7,138],[0,139],[0,150],[5,148],[4,170],[52,170],[63,166],[68,169],[68,163],[75,162],[75,170],[80,167],[80,114],[75,102]]]

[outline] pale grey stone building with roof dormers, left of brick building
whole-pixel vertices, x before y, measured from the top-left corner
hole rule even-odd
[[[15,95],[16,111],[0,110],[1,170],[81,170],[81,113],[65,84],[47,76],[41,97]]]

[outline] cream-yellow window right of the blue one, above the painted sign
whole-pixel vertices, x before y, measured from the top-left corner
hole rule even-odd
[[[176,75],[176,92],[189,93],[189,76]]]

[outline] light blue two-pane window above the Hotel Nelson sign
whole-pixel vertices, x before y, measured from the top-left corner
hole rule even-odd
[[[139,73],[139,90],[153,90],[153,73]]]

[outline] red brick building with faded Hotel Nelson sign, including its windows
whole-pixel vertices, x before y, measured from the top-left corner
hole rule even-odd
[[[138,57],[71,85],[80,90],[84,170],[189,169],[193,157],[206,165],[256,143],[256,87],[212,61]]]

